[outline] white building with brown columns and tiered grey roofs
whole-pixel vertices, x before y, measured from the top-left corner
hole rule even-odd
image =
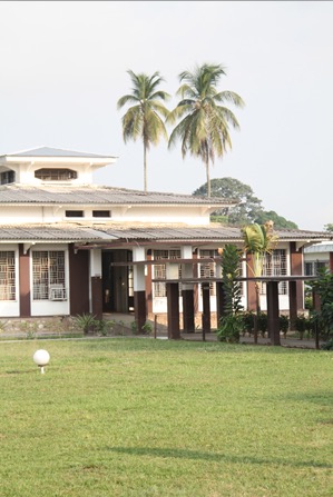
[[[209,222],[214,210],[237,200],[94,185],[94,171],[116,160],[47,147],[0,157],[0,318],[134,310],[144,322],[167,311],[163,278],[175,271],[183,278],[218,276],[217,249],[242,247],[238,228]],[[330,238],[302,230],[277,235],[266,275],[302,275],[303,248]],[[200,288],[195,281],[183,286],[180,311],[184,301],[186,308],[192,301],[190,314],[203,310]],[[209,292],[214,311],[215,284]],[[281,309],[288,308],[287,282],[280,292]],[[301,309],[303,291],[297,295]],[[243,285],[243,302],[254,307],[252,282]]]

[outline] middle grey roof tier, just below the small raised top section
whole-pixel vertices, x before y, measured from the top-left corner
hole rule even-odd
[[[67,187],[3,185],[0,187],[0,205],[205,205],[218,207],[235,205],[235,199],[195,197],[192,195],[147,192],[112,187]]]

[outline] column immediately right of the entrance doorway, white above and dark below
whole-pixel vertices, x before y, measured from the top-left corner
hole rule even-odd
[[[146,251],[144,247],[135,247],[133,249],[133,261],[145,260]],[[134,314],[137,331],[140,332],[147,320],[146,308],[146,281],[145,265],[134,265],[133,267],[133,286],[134,286]]]

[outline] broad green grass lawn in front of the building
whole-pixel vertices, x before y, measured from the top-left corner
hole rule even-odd
[[[332,380],[330,351],[1,342],[0,495],[332,496]]]

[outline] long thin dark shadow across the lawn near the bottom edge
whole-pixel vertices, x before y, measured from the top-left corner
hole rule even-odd
[[[308,461],[294,461],[287,459],[263,459],[254,456],[231,456],[226,454],[217,453],[202,453],[199,450],[188,450],[188,449],[173,449],[173,448],[153,448],[153,447],[108,447],[108,450],[127,454],[129,456],[149,456],[149,457],[161,457],[161,458],[175,458],[175,459],[192,459],[192,460],[208,460],[208,461],[226,461],[226,463],[237,463],[237,464],[255,464],[255,465],[281,465],[281,466],[294,466],[294,467],[308,467],[308,468],[327,468],[332,469],[333,466],[319,463],[315,460]]]

